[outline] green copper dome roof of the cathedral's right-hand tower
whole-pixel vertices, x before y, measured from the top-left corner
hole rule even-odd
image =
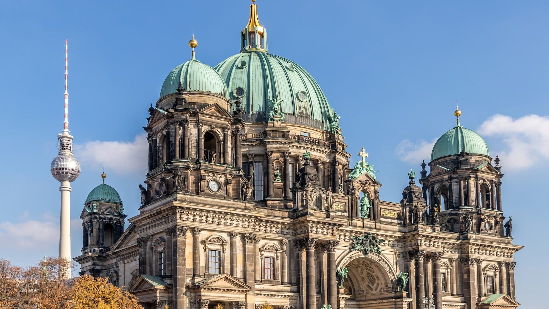
[[[431,161],[447,155],[456,155],[465,149],[470,154],[490,155],[484,139],[473,130],[458,125],[442,134],[436,141],[431,153]]]

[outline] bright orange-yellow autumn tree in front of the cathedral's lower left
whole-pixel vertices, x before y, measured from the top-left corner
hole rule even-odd
[[[107,278],[84,275],[72,283],[74,309],[143,309],[137,297],[109,283]]]

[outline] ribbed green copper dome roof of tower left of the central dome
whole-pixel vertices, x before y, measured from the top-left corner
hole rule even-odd
[[[219,73],[211,66],[195,59],[176,66],[168,74],[162,85],[160,98],[177,92],[179,83],[188,91],[204,91],[219,94],[223,97],[228,96],[227,86]]]

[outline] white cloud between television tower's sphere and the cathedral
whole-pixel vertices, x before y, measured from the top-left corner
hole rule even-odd
[[[144,173],[147,170],[147,133],[138,134],[132,142],[91,141],[75,145],[75,156],[82,165],[105,167],[117,173]]]

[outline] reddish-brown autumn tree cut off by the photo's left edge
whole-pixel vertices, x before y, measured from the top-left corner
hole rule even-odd
[[[0,260],[0,308],[17,308],[21,268],[8,260]]]

